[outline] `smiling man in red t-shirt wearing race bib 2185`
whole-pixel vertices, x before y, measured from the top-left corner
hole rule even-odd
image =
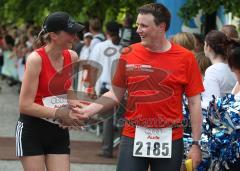
[[[95,103],[73,108],[73,116],[88,119],[121,101],[128,92],[118,171],[179,171],[183,157],[182,95],[186,94],[192,122],[193,145],[188,157],[196,168],[202,115],[201,74],[192,52],[170,43],[166,31],[170,13],[162,4],[138,9],[137,32],[141,43],[121,55],[112,90]]]

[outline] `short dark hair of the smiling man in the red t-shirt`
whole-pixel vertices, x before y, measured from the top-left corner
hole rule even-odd
[[[152,14],[156,25],[160,23],[166,24],[166,31],[170,27],[171,14],[169,10],[161,3],[150,3],[138,8],[140,14]]]

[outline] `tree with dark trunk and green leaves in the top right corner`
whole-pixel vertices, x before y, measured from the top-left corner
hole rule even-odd
[[[225,13],[232,12],[234,16],[240,17],[240,0],[187,0],[179,12],[179,16],[185,22],[195,17],[199,10],[205,15],[204,34],[216,29],[217,10],[223,6]]]

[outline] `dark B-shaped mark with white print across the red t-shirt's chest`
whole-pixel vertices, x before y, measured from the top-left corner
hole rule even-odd
[[[138,104],[156,103],[173,96],[172,88],[161,84],[168,73],[150,65],[126,65],[129,103],[127,109],[134,111]]]

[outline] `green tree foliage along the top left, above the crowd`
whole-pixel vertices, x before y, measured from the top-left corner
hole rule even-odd
[[[117,19],[121,9],[136,16],[137,7],[151,2],[153,0],[0,0],[0,24],[40,25],[54,11],[66,11],[81,22],[91,17],[107,22]]]

